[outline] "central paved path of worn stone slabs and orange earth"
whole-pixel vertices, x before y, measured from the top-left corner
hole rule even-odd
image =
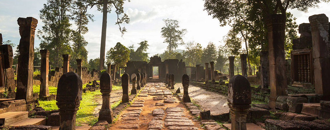
[[[110,129],[202,130],[203,128],[163,83],[149,83],[132,105],[121,112]]]

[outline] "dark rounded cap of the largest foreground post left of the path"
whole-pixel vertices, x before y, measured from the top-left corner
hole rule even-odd
[[[56,105],[79,106],[82,100],[82,79],[77,73],[70,71],[58,80]]]

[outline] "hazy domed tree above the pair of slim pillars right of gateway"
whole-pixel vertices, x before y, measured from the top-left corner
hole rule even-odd
[[[213,42],[209,42],[208,45],[205,48],[203,48],[201,65],[204,65],[204,63],[209,63],[210,61],[215,61],[216,56],[217,56],[217,50],[215,44]]]

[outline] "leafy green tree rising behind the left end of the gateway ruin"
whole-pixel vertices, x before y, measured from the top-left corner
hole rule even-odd
[[[146,51],[148,49],[148,41],[142,41],[138,43],[140,46],[134,51],[134,45],[129,46],[130,54],[129,58],[130,61],[149,61],[149,57]]]

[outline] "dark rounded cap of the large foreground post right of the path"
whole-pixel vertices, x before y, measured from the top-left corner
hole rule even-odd
[[[229,81],[228,102],[234,105],[251,104],[251,86],[248,79],[237,74]]]

